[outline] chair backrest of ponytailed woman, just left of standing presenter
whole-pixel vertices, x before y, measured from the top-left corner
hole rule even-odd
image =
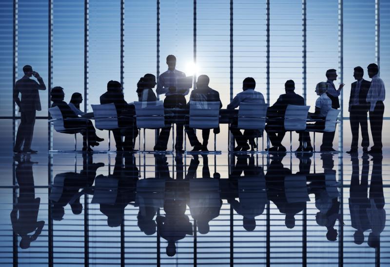
[[[138,128],[158,129],[165,127],[162,101],[134,102]]]

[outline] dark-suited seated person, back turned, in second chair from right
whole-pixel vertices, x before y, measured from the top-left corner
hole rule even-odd
[[[286,134],[284,129],[284,114],[286,112],[287,105],[304,105],[305,100],[300,95],[295,94],[295,83],[292,80],[288,80],[284,84],[286,90],[285,94],[279,96],[277,101],[268,108],[267,117],[269,118],[267,126],[265,128],[268,136],[270,137],[273,147],[267,149],[268,151],[286,151],[286,147],[282,145],[282,140]]]

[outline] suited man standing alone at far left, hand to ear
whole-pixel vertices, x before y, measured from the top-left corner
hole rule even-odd
[[[24,76],[16,82],[13,92],[14,102],[19,106],[20,112],[20,125],[16,134],[14,153],[35,154],[38,151],[31,149],[31,142],[33,140],[36,111],[41,110],[38,90],[46,90],[46,85],[39,73],[33,71],[32,66],[25,65],[23,72]],[[30,79],[33,75],[39,83]],[[19,93],[21,99],[19,99]],[[20,148],[23,143],[23,151],[21,151]]]

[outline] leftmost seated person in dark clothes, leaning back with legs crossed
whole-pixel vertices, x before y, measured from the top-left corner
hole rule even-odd
[[[96,130],[94,125],[90,120],[78,120],[78,115],[73,112],[69,105],[64,102],[65,94],[63,88],[56,86],[50,91],[51,101],[53,102],[52,107],[58,106],[61,111],[62,117],[64,119],[76,119],[72,121],[64,121],[65,128],[78,128],[86,127],[85,130],[81,131],[83,136],[83,151],[93,151],[90,146],[99,145],[98,142],[103,141],[103,138],[99,138],[96,135]],[[88,140],[87,140],[87,131],[88,131]]]

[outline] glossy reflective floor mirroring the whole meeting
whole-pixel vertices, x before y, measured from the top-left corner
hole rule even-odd
[[[1,265],[390,264],[390,153],[11,155]]]

